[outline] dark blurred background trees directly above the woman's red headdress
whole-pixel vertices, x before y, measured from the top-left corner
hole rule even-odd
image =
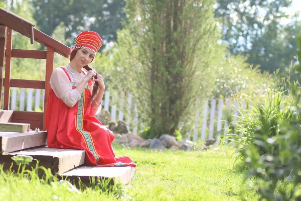
[[[63,23],[65,38],[72,45],[74,37],[83,30],[96,31],[106,42],[116,40],[116,30],[121,29],[123,0],[32,0],[35,8],[34,18],[40,30],[52,35]],[[68,40],[69,39],[69,40]]]

